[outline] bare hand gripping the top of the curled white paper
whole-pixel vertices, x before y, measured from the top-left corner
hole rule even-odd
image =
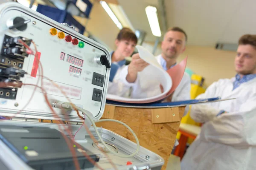
[[[131,57],[131,63],[128,65],[126,80],[128,82],[135,82],[138,72],[143,71],[148,65],[147,62],[140,58],[139,53],[134,54]]]

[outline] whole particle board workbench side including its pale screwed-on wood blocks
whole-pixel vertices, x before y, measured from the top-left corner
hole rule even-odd
[[[140,146],[163,157],[165,163],[162,170],[166,170],[184,111],[185,106],[128,108],[107,104],[102,119],[116,119],[131,127],[140,141]],[[123,125],[115,122],[99,122],[96,125],[135,142],[132,133]]]

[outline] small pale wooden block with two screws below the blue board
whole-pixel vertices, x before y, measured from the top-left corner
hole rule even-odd
[[[152,123],[179,122],[179,108],[158,108],[152,109]]]

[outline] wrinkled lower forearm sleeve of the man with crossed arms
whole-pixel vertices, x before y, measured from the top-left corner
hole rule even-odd
[[[242,111],[224,113],[207,122],[201,130],[201,139],[234,147],[256,146],[256,99],[251,101],[244,105],[247,108],[241,108]]]

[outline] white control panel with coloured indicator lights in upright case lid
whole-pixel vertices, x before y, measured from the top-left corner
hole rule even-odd
[[[19,116],[52,117],[44,97],[45,91],[49,101],[71,101],[90,111],[94,119],[100,119],[105,108],[110,73],[111,58],[107,49],[42,14],[13,5],[0,9],[0,70],[20,68],[27,74],[20,78],[23,83],[20,88],[0,88],[0,115],[17,113],[33,95]],[[35,51],[32,43],[35,42],[43,75],[35,55],[20,57],[24,50],[27,53],[31,51],[28,48],[22,50],[22,44],[12,44],[17,37],[28,42],[32,51]],[[0,74],[0,79],[4,81],[7,78]],[[33,85],[41,87],[36,88],[34,94]],[[60,109],[54,109],[64,118]],[[79,119],[75,111],[65,114],[71,120]]]

